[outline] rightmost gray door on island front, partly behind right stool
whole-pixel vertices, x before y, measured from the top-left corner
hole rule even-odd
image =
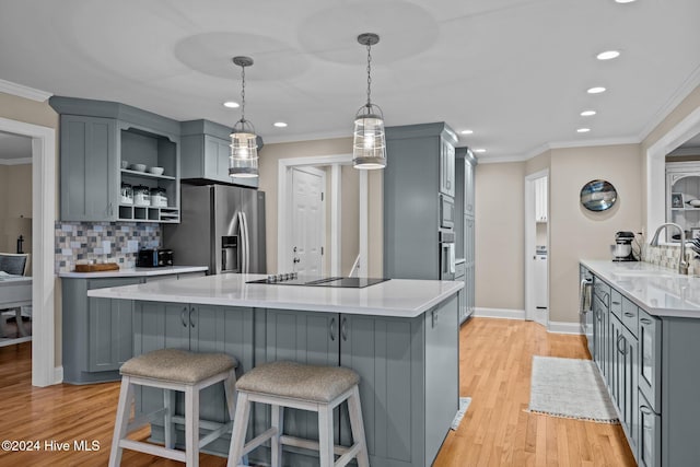
[[[408,320],[341,315],[340,319],[340,364],[360,374],[362,412],[372,415],[364,417],[370,465],[430,465],[424,460],[422,316]],[[350,445],[345,407],[341,419],[341,442]]]

